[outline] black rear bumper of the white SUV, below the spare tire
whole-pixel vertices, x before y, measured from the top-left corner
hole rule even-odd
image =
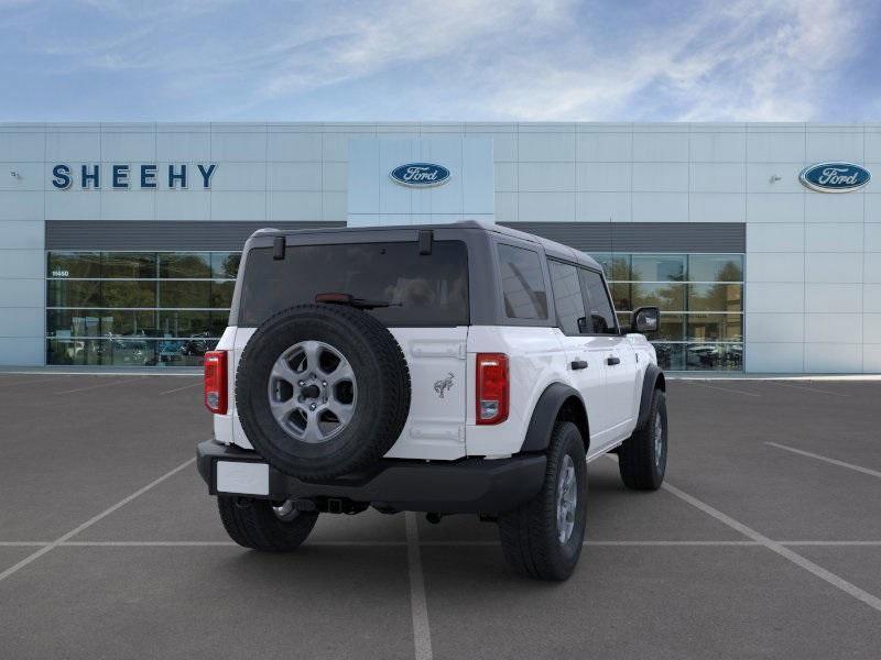
[[[218,461],[265,463],[255,451],[200,442],[196,464],[211,495],[217,495]],[[544,481],[544,454],[510,459],[463,459],[425,462],[383,459],[368,474],[307,483],[269,468],[269,495],[247,495],[273,501],[328,497],[376,504],[399,510],[496,514],[519,507],[532,498]]]

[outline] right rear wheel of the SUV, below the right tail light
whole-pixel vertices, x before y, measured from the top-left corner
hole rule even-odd
[[[572,575],[585,538],[587,462],[581,433],[570,421],[554,425],[542,490],[499,516],[502,552],[516,572],[540,580]]]

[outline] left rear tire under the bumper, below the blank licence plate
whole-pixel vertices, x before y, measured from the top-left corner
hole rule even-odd
[[[306,540],[318,519],[315,512],[276,514],[267,499],[252,499],[247,506],[241,506],[237,499],[220,495],[217,507],[229,537],[244,548],[290,552]]]

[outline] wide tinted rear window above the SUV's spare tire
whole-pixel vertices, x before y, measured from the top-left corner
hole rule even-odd
[[[329,293],[389,302],[368,314],[390,327],[467,326],[468,251],[461,241],[435,241],[424,255],[415,242],[295,245],[276,261],[271,248],[254,249],[246,261],[239,326],[259,326]]]

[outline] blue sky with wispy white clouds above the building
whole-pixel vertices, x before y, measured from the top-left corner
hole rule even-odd
[[[0,121],[881,121],[881,2],[0,0]]]

